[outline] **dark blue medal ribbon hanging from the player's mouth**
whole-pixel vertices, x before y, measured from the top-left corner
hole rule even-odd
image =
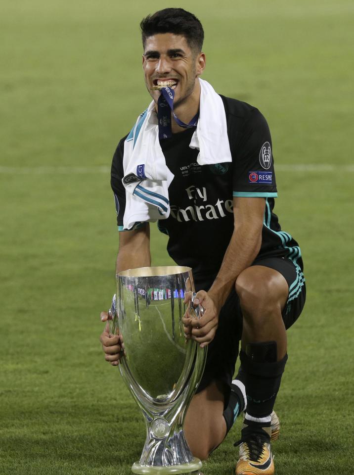
[[[159,121],[159,139],[169,139],[172,137],[172,128],[171,128],[171,112],[179,125],[183,129],[189,129],[195,127],[198,122],[199,112],[193,117],[189,124],[185,124],[178,119],[177,115],[174,112],[174,98],[175,91],[168,87],[161,89],[161,95],[157,100],[157,118]]]

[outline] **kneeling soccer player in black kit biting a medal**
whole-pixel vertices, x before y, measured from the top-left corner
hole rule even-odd
[[[154,219],[147,213],[134,221],[132,213],[142,194],[144,205],[153,207],[155,201],[171,257],[192,267],[196,303],[205,308],[198,322],[188,312],[183,318],[187,338],[209,345],[203,379],[185,418],[190,448],[206,459],[245,412],[236,474],[273,474],[270,439],[278,427],[271,415],[287,361],[286,329],[299,317],[306,290],[298,243],[281,230],[273,212],[277,190],[269,129],[257,108],[217,95],[200,79],[204,32],[192,13],[166,8],[144,18],[140,27],[144,79],[153,102],[113,157],[117,272],[150,265],[148,221]],[[150,145],[133,155],[141,137]],[[149,156],[161,151],[162,169],[167,166],[173,177],[167,196],[147,188],[142,165],[128,173],[133,156],[146,171]],[[107,320],[106,312],[101,320]],[[101,334],[112,365],[121,357],[120,338],[109,337],[108,326]],[[240,371],[232,380],[239,340]]]

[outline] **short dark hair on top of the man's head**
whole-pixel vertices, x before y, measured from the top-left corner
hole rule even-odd
[[[200,52],[203,47],[204,30],[198,18],[183,8],[164,8],[147,15],[140,22],[142,45],[146,38],[158,33],[174,33],[184,36],[190,49]]]

